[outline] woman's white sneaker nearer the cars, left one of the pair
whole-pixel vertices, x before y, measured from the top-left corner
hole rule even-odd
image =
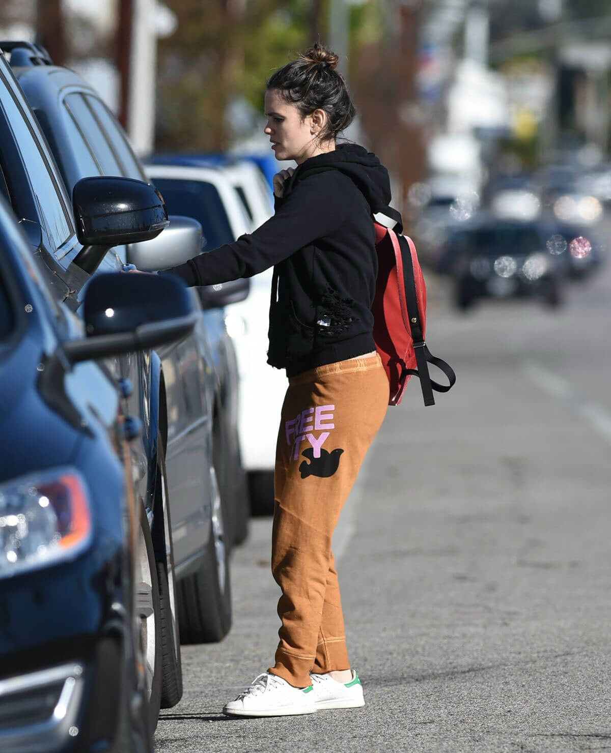
[[[313,714],[313,687],[293,687],[278,675],[263,672],[234,701],[225,705],[230,716],[291,716]]]

